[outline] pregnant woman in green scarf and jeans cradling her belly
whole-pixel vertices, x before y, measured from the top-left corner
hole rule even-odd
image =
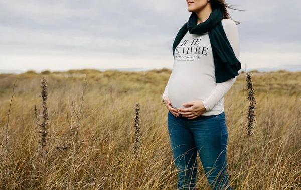
[[[162,96],[178,189],[195,189],[197,155],[211,188],[231,189],[224,96],[241,69],[238,29],[224,0],[186,2],[192,13],[175,38],[173,70]]]

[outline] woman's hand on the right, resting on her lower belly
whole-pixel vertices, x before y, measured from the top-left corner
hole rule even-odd
[[[188,117],[188,119],[194,119],[199,115],[206,112],[206,108],[203,105],[203,101],[195,100],[191,102],[184,103],[183,106],[189,106],[188,108],[177,108],[179,114],[182,114],[184,117]]]

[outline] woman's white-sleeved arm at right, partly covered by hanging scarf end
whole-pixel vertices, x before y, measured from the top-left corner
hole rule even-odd
[[[239,60],[239,36],[236,23],[231,19],[224,19],[222,24],[234,54]],[[202,101],[206,111],[211,110],[225,96],[236,81],[237,77],[238,76],[235,76],[235,78],[231,78],[225,82],[217,83],[215,89],[205,100]]]

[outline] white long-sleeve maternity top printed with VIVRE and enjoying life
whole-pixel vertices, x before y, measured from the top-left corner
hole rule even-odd
[[[222,25],[236,58],[239,60],[239,36],[236,23],[223,19]],[[217,115],[224,112],[224,96],[235,78],[216,83],[214,59],[208,33],[198,35],[189,31],[175,49],[175,59],[169,81],[162,95],[169,96],[173,108],[184,108],[184,103],[202,100],[206,112]]]

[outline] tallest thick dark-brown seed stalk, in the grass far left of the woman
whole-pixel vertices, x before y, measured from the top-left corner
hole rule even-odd
[[[46,161],[47,161],[47,153],[48,150],[46,148],[47,142],[48,142],[48,126],[47,126],[47,120],[48,119],[48,112],[47,112],[47,103],[46,100],[48,98],[47,95],[47,80],[43,77],[41,80],[41,87],[42,91],[41,94],[39,95],[42,99],[42,114],[40,115],[42,117],[42,122],[38,124],[40,126],[40,140],[39,140],[39,146],[38,146],[38,153],[41,156],[42,159],[42,173],[43,173],[43,183],[42,183],[42,189],[45,189],[45,175],[46,175]]]

